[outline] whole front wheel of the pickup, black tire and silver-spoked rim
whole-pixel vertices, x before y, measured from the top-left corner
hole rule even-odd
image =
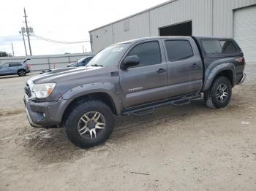
[[[113,127],[113,112],[102,101],[85,101],[75,106],[64,122],[69,141],[82,148],[105,142]]]

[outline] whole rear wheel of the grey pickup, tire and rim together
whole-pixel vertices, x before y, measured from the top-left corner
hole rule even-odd
[[[210,90],[204,93],[203,98],[206,106],[222,108],[227,106],[232,95],[232,85],[226,77],[218,77],[214,80]]]

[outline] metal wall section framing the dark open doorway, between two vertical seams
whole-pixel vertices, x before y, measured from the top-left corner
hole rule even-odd
[[[211,35],[211,0],[179,0],[150,11],[151,35],[159,28],[192,20],[192,34]]]

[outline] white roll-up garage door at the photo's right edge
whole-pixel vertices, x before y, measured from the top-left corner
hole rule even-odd
[[[246,62],[256,63],[256,6],[235,11],[234,39],[244,52]]]

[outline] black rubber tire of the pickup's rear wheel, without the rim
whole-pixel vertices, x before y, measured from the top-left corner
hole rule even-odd
[[[221,102],[217,99],[217,88],[219,87],[219,85],[222,85],[222,84],[227,85],[227,93],[228,93],[227,98],[224,100],[224,102]],[[206,106],[213,109],[219,109],[229,104],[231,95],[232,95],[232,85],[230,83],[230,80],[228,80],[226,77],[218,77],[212,83],[211,88],[203,94],[203,99],[206,102]]]

